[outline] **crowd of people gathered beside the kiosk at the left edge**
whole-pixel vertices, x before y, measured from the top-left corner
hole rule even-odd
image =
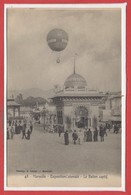
[[[9,120],[7,123],[7,140],[13,139],[15,134],[21,134],[22,139],[30,140],[32,130],[32,120]]]

